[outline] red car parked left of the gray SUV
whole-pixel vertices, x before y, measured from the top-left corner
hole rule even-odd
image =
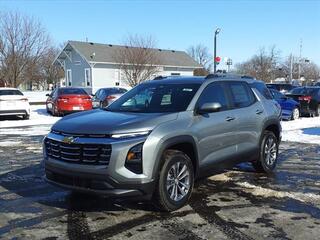
[[[92,100],[82,88],[56,88],[48,96],[47,112],[53,116],[92,109]]]

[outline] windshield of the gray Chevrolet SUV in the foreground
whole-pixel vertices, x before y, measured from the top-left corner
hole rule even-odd
[[[162,113],[185,111],[200,84],[141,84],[124,94],[107,110]]]

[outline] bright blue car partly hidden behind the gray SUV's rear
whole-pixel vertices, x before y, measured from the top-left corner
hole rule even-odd
[[[280,104],[282,110],[281,118],[284,120],[296,120],[300,117],[300,104],[285,96],[281,92],[270,89],[273,98]]]

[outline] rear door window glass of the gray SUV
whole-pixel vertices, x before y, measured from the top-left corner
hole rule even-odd
[[[236,108],[248,107],[255,102],[253,93],[245,83],[228,83],[228,86]]]

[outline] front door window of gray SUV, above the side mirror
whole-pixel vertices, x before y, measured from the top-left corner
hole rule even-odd
[[[221,110],[228,109],[228,100],[225,94],[225,89],[220,83],[209,84],[201,93],[198,100],[198,106],[202,106],[205,103],[218,102],[221,104]]]

